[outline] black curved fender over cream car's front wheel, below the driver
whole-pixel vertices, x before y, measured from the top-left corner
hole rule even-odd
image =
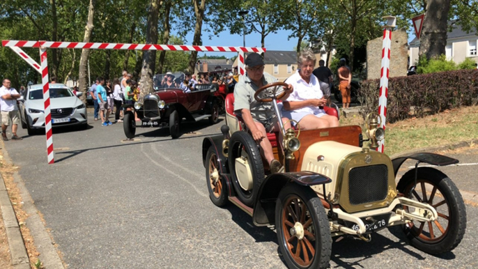
[[[279,192],[287,184],[293,182],[304,187],[332,182],[327,176],[310,171],[271,174],[265,178],[259,189],[252,220],[256,226],[275,224],[275,203]]]

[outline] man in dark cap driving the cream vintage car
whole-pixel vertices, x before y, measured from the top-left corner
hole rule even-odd
[[[275,77],[264,72],[264,61],[261,55],[252,53],[245,60],[246,75],[240,79],[234,89],[234,112],[241,116],[247,129],[249,129],[252,138],[259,142],[262,153],[268,161],[270,171],[277,173],[282,164],[274,159],[272,145],[267,139],[266,132],[279,132],[279,141],[282,141],[282,132],[279,129],[279,120],[275,115],[272,102],[257,102],[254,99],[254,93],[270,83],[277,82]],[[288,84],[284,87],[286,95],[282,100],[286,100],[293,92],[293,86]],[[282,121],[288,121],[288,118],[282,118]],[[290,128],[290,123],[284,125],[284,128]]]

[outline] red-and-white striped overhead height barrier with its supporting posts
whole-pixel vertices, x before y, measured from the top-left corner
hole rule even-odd
[[[264,47],[216,47],[216,46],[192,46],[192,45],[155,45],[155,44],[123,44],[123,43],[80,43],[80,42],[53,42],[53,41],[26,41],[26,40],[2,40],[3,47],[10,47],[24,61],[42,75],[43,102],[45,103],[45,133],[47,136],[48,163],[54,163],[52,114],[49,102],[49,79],[47,64],[47,48],[52,49],[137,49],[137,50],[169,50],[185,52],[238,52],[240,75],[245,75],[244,55],[245,52],[265,52]],[[24,53],[20,47],[40,48],[41,66]]]

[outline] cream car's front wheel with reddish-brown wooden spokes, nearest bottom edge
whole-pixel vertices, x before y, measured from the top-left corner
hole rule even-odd
[[[332,236],[321,199],[310,187],[286,185],[277,198],[275,226],[288,268],[327,268]]]

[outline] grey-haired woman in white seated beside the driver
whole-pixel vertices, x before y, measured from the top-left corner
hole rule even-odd
[[[327,99],[323,98],[318,79],[312,74],[315,65],[314,52],[306,49],[298,58],[298,72],[286,79],[286,83],[293,85],[294,92],[283,102],[282,115],[300,123],[304,130],[339,126],[339,120],[323,110]]]

